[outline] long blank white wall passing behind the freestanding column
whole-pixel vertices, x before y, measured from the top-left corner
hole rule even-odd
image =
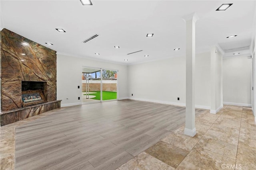
[[[185,57],[130,65],[128,75],[131,99],[185,106]],[[196,107],[210,109],[210,53],[196,54],[195,85]]]

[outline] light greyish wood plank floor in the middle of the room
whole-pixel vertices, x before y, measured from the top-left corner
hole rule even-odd
[[[115,170],[185,123],[185,107],[133,100],[57,110],[16,127],[15,169]]]

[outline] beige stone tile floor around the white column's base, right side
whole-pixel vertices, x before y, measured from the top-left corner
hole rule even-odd
[[[197,134],[184,126],[117,170],[256,169],[256,125],[250,107],[224,106],[196,117]]]

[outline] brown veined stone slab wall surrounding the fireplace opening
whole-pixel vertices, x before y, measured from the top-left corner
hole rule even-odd
[[[45,98],[56,100],[56,51],[2,29],[1,111],[22,107],[21,81],[47,82]]]

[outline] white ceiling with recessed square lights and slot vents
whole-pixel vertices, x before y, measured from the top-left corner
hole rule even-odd
[[[255,0],[91,1],[92,6],[83,6],[80,0],[1,0],[0,27],[60,54],[121,64],[184,56],[186,23],[182,17],[192,12],[199,16],[196,53],[209,51],[216,44],[229,55],[249,51],[255,31]],[[226,11],[216,11],[223,3],[233,5]],[[146,37],[147,33],[154,36]],[[94,34],[99,36],[82,43]],[[229,35],[238,36],[227,39]],[[116,45],[120,48],[115,49]]]

